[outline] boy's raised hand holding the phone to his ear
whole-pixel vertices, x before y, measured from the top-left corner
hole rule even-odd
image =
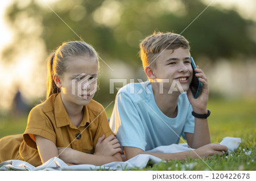
[[[191,90],[187,91],[188,100],[193,107],[193,111],[199,114],[207,113],[207,103],[209,98],[209,87],[208,87],[208,79],[204,74],[203,70],[199,69],[199,66],[196,66],[195,69],[196,77],[199,77],[199,81],[203,83],[201,88],[200,95],[197,99],[195,99],[192,95]]]

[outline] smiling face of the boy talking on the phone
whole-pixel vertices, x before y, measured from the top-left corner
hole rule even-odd
[[[155,82],[164,82],[164,90],[168,91],[172,82],[178,81],[183,90],[188,91],[193,76],[189,49],[166,49],[160,52],[163,53],[156,59],[156,68],[152,68]]]

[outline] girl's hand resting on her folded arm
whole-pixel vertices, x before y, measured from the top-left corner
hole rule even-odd
[[[96,147],[95,147],[95,153],[96,155],[105,155],[105,156],[113,156],[116,153],[121,153],[121,146],[115,138],[115,136],[112,134],[109,137],[105,138],[105,134],[103,134],[100,138],[98,138]]]

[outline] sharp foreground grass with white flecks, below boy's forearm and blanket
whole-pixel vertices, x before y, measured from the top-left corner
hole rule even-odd
[[[239,148],[228,157],[216,156],[207,159],[189,159],[188,161],[160,162],[154,165],[148,164],[143,169],[133,170],[173,170],[173,171],[193,171],[193,170],[249,170],[256,169],[255,142],[243,141]],[[251,151],[249,155],[246,152]]]

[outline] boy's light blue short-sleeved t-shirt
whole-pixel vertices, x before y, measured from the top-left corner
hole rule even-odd
[[[130,83],[120,89],[110,118],[110,128],[121,146],[143,151],[178,144],[185,132],[193,133],[195,118],[186,92],[179,95],[177,116],[170,118],[155,103],[151,82]]]

